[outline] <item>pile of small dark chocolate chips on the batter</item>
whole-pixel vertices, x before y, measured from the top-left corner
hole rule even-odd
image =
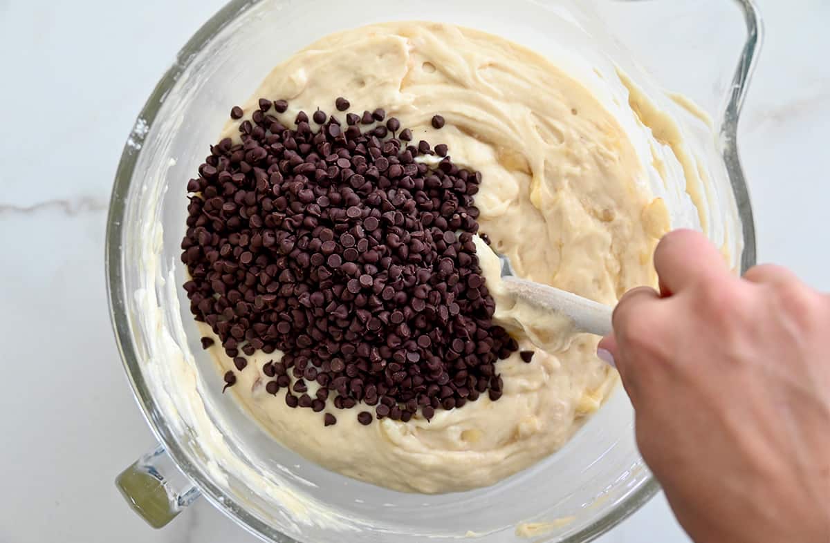
[[[291,407],[321,411],[335,395],[338,409],[362,403],[378,419],[407,421],[484,393],[498,400],[496,361],[518,347],[491,322],[472,241],[481,173],[453,164],[446,145],[409,143],[412,131],[383,109],[349,113],[346,126],[318,110],[316,129],[304,112],[287,128],[272,109],[287,104],[261,99],[239,126],[242,143],[212,146],[188,183],[182,261],[195,318],[238,371],[239,351],[283,351],[263,372],[266,390],[284,390]],[[415,160],[433,154],[437,167]],[[320,385],[314,398],[310,381]]]

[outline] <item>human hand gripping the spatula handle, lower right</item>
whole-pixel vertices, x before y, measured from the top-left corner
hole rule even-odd
[[[777,266],[735,277],[691,230],[654,261],[661,292],[623,296],[599,354],[677,519],[697,543],[828,543],[830,297]]]

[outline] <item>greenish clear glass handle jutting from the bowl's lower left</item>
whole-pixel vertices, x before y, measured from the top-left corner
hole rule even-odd
[[[157,445],[115,478],[115,486],[144,521],[162,528],[195,501],[199,492]]]

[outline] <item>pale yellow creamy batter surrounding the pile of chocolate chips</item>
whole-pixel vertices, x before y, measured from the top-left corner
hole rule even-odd
[[[386,109],[413,129],[416,143],[447,143],[454,162],[482,172],[481,231],[517,274],[608,304],[628,288],[654,284],[650,259],[669,227],[665,206],[652,201],[642,160],[613,114],[544,57],[448,25],[364,27],[278,65],[243,109],[248,119],[260,97],[287,99],[281,119],[288,124],[300,109],[336,113],[341,95],[358,114]],[[430,126],[434,114],[447,119],[442,130]],[[238,122],[222,136],[237,138]],[[491,266],[485,271],[492,276]],[[540,351],[515,326],[538,316],[494,294],[496,318],[510,321],[503,323],[522,349],[536,351],[530,364],[518,354],[498,363],[505,393],[496,402],[483,395],[438,410],[430,422],[369,426],[357,422],[359,409],[330,405],[338,423],[326,428],[323,413],[291,409],[283,394],[266,393],[261,367],[278,352],[251,356],[230,390],[286,447],[344,475],[414,492],[491,485],[560,448],[616,379],[595,356],[598,337],[563,327],[561,341]],[[221,349],[213,351],[222,371],[233,369]]]

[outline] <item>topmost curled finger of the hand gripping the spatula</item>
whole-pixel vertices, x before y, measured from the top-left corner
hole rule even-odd
[[[654,268],[666,295],[701,278],[729,273],[720,251],[695,230],[674,230],[664,235],[654,251]]]

